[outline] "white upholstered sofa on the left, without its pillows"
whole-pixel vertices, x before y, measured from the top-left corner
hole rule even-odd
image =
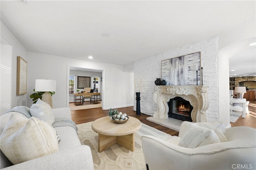
[[[52,113],[54,114],[55,121],[56,120],[64,120],[64,121],[72,120],[71,112],[69,108],[52,109]],[[17,114],[22,115],[21,119],[23,119],[22,117],[24,117],[24,119],[29,119],[29,118],[26,118],[22,113],[18,113],[16,111],[5,113],[0,117],[1,137],[2,137],[2,132],[4,128],[8,125],[8,121],[10,117],[12,117],[12,115],[17,115]],[[22,169],[22,170],[25,170],[25,169],[26,170],[28,169],[31,169],[31,170],[35,170],[35,169],[36,170],[39,170],[39,169],[40,170],[57,170],[57,169],[58,170],[59,169],[91,170],[91,169],[94,169],[91,149],[89,146],[81,145],[76,129],[72,126],[66,126],[66,125],[58,125],[57,127],[54,127],[54,129],[58,132],[60,137],[60,142],[58,144],[57,152],[13,165],[2,152],[2,145],[1,145],[1,160],[0,160],[1,167],[0,168],[6,169],[6,170],[7,169],[12,169],[12,170],[14,169]],[[27,140],[30,140],[30,138],[27,138]]]

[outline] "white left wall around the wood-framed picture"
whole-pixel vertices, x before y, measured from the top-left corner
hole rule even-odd
[[[17,84],[17,56],[22,57],[24,60],[27,60],[27,50],[23,47],[23,45],[14,37],[14,35],[10,32],[10,30],[4,25],[4,23],[1,21],[1,50],[8,50],[7,46],[2,46],[2,44],[10,45],[12,48],[11,54],[2,56],[1,55],[1,65],[2,63],[10,63],[10,65],[7,65],[6,67],[10,68],[10,79],[8,79],[8,87],[5,87],[6,89],[2,91],[1,89],[1,95],[6,94],[6,96],[10,97],[11,103],[8,103],[7,105],[10,106],[10,108],[16,107],[16,106],[26,106],[27,103],[27,94],[25,95],[16,95],[16,84]],[[3,47],[3,49],[2,49]],[[1,76],[1,82],[5,81],[4,77]],[[28,91],[28,90],[27,90]],[[1,100],[2,104],[2,100]],[[6,106],[7,106],[6,105]],[[8,106],[8,107],[9,107]],[[1,108],[2,109],[2,108]],[[7,108],[5,108],[7,109]]]

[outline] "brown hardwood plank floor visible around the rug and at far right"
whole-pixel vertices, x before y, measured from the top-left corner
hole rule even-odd
[[[145,115],[143,113],[141,113],[140,115],[136,115],[136,111],[133,111],[133,107],[119,108],[118,111],[122,111],[122,113],[126,113],[128,116],[136,117],[142,123],[148,126],[154,127],[172,136],[178,136],[178,132],[175,130],[147,121],[146,118],[150,117],[149,115]],[[249,111],[250,111],[250,114],[246,114],[246,118],[242,118],[242,116],[240,116],[235,123],[230,123],[231,127],[248,126],[248,127],[256,128],[256,100],[254,101],[250,100]],[[72,115],[73,121],[76,124],[80,124],[80,123],[91,122],[100,117],[107,116],[108,110],[102,110],[100,107],[92,108],[92,109],[82,109],[82,110],[71,111],[71,115]]]

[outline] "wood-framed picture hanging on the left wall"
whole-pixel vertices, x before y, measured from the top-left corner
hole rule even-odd
[[[22,57],[17,56],[17,89],[16,95],[27,93],[27,70],[28,63]]]

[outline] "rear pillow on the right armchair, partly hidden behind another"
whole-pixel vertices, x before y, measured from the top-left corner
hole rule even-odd
[[[195,123],[196,125],[208,129],[214,130],[220,139],[220,142],[227,142],[228,139],[225,136],[226,127],[223,122],[208,122],[208,123]]]

